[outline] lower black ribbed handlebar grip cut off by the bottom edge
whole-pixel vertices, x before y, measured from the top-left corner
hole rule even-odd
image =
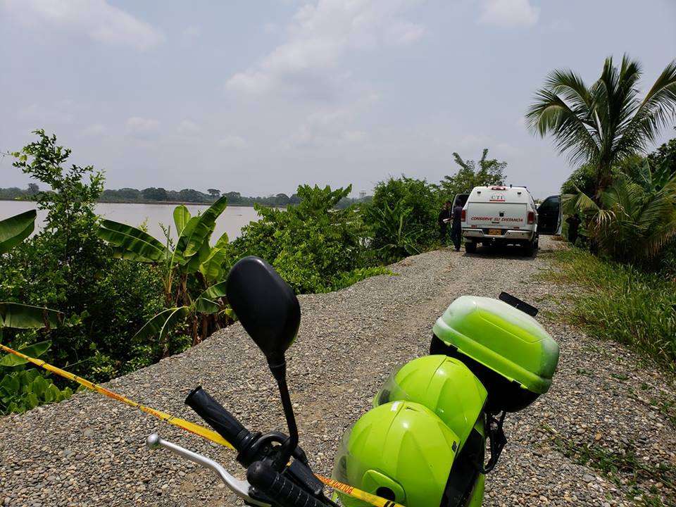
[[[253,463],[246,470],[246,480],[280,507],[327,507],[304,489],[262,461]]]

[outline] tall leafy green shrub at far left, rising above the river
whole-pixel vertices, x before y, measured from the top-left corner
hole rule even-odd
[[[37,141],[15,154],[14,165],[51,188],[36,197],[46,223],[0,256],[0,301],[54,308],[66,323],[49,331],[7,330],[6,341],[21,346],[48,337],[53,346],[46,361],[108,380],[146,361],[145,349],[142,358],[134,355],[134,346],[144,343],[130,343],[130,337],[161,308],[161,277],[152,266],[112,258],[96,235],[94,203],[103,175],[91,166],[66,168],[70,150],[42,130],[35,133]],[[156,361],[158,351],[150,357]]]

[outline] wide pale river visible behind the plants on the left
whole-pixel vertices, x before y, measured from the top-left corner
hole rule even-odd
[[[208,205],[202,204],[187,204],[186,206],[192,215],[208,208]],[[176,237],[172,214],[175,207],[175,204],[99,203],[96,204],[96,213],[109,220],[134,226],[145,222],[149,234],[163,242],[164,234],[160,226],[161,224],[165,226],[171,225],[172,236]],[[0,201],[0,220],[34,208],[35,203],[30,201]],[[38,210],[37,228],[42,225],[45,216],[46,213],[44,211]],[[238,237],[242,227],[253,220],[258,220],[258,214],[253,208],[249,206],[228,206],[218,217],[218,220],[216,220],[212,242],[215,242],[215,239],[220,237],[223,232],[227,232],[227,237],[230,240]]]

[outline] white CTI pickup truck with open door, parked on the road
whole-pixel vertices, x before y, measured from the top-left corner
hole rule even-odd
[[[465,250],[470,253],[480,243],[512,244],[532,256],[539,234],[561,233],[561,197],[549,196],[537,208],[526,187],[475,187],[463,207],[461,223]]]

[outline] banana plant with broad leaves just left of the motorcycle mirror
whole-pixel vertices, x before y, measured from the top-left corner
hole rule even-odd
[[[113,220],[101,222],[99,237],[113,247],[115,258],[152,263],[163,268],[167,308],[137,333],[137,337],[157,336],[163,355],[168,353],[168,333],[186,320],[192,327],[193,344],[198,344],[211,328],[219,327],[223,318],[232,316],[222,302],[225,292],[219,285],[225,277],[227,234],[223,234],[214,246],[210,245],[216,219],[225,206],[226,198],[221,197],[196,216],[191,216],[185,206],[177,206],[173,212],[178,233],[175,247],[170,241],[170,229],[162,243],[137,227]],[[190,291],[195,286],[202,287],[204,292],[193,298]]]

